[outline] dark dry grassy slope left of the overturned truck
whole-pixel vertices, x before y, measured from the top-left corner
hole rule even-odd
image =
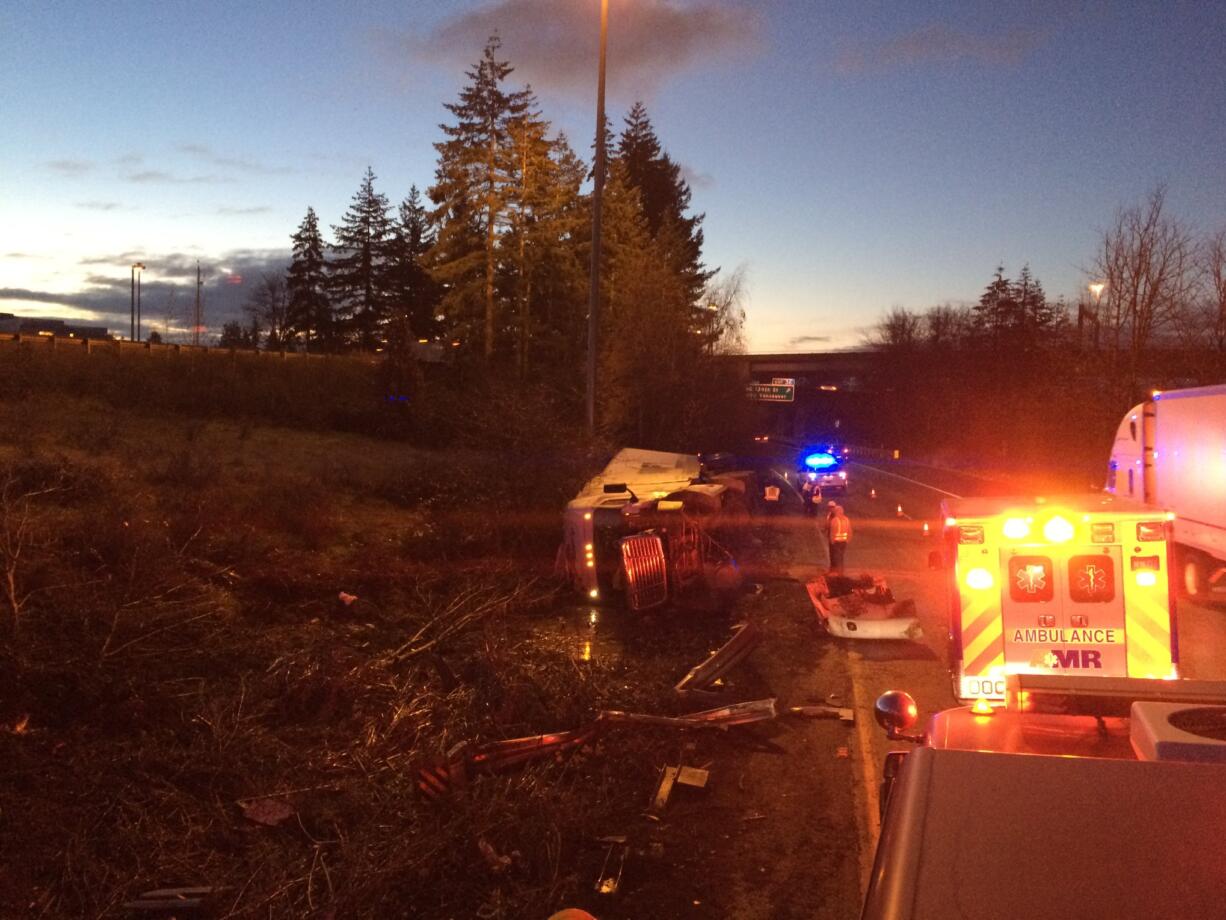
[[[173,886],[212,916],[544,915],[677,756],[626,735],[414,794],[456,741],[667,710],[663,650],[709,648],[666,627],[631,681],[532,629],[577,461],[31,394],[0,431],[0,915]],[[283,822],[246,817],[270,799]]]

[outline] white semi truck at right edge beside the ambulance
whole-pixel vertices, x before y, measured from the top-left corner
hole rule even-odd
[[[1175,515],[1190,595],[1226,592],[1226,384],[1157,393],[1119,423],[1107,491]]]

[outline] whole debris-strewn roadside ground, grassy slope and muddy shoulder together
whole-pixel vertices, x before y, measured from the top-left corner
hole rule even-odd
[[[457,742],[711,705],[672,688],[741,617],[765,638],[728,699],[846,702],[792,578],[824,562],[802,519],[754,520],[764,589],[732,616],[593,627],[552,579],[585,475],[560,456],[497,480],[472,453],[28,395],[0,431],[0,915],[156,916],[128,905],[177,887],[201,919],[856,914],[836,721],[620,730],[463,796],[416,781]],[[532,476],[554,493],[503,488]],[[651,821],[667,764],[709,788]]]

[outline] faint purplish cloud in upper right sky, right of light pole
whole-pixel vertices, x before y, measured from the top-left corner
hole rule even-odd
[[[973,34],[934,23],[885,42],[846,48],[835,59],[835,70],[843,75],[884,74],[928,64],[962,61],[1015,67],[1040,45],[1042,38],[1038,32],[1026,28],[1011,28],[998,34]]]

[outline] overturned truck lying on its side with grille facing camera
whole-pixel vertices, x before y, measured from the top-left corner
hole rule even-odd
[[[706,476],[696,456],[625,448],[566,505],[559,565],[592,602],[651,610],[729,605],[729,546],[747,531],[747,478]]]

